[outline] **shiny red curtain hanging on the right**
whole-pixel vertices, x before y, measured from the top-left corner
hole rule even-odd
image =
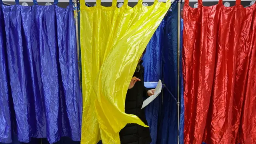
[[[184,4],[185,144],[256,144],[256,4]]]

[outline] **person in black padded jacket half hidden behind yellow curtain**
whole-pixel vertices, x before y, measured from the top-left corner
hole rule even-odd
[[[146,51],[144,50],[142,56]],[[126,100],[125,113],[138,116],[142,122],[148,125],[144,109],[141,110],[144,97],[152,96],[154,89],[148,90],[144,87],[144,67],[142,66],[142,56],[138,62],[132,80],[130,82]],[[120,132],[121,144],[150,144],[152,141],[149,128],[138,124],[127,124]]]

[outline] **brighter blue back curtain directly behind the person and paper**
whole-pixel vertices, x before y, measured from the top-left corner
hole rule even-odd
[[[161,79],[164,22],[165,20],[162,20],[146,47],[146,53],[144,54],[142,63],[144,66],[145,82],[158,82],[158,80]],[[148,126],[150,127],[150,135],[152,138],[151,144],[156,144],[157,142],[158,113],[161,104],[160,94],[153,102],[146,106],[145,109],[146,119]]]

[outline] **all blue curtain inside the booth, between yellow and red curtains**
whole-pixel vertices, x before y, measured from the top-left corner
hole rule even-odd
[[[183,144],[184,136],[184,100],[182,78],[182,32],[181,22],[180,43],[180,130],[179,142]],[[164,20],[150,40],[144,56],[145,80],[157,82],[162,79],[166,85],[163,97],[158,96],[146,108],[146,117],[149,122],[152,144],[177,144],[177,47],[178,47],[178,1],[175,0]],[[160,107],[159,107],[160,106]],[[158,112],[160,113],[158,115]]]

